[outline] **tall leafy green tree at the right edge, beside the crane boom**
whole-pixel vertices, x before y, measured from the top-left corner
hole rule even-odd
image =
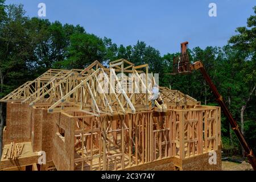
[[[241,131],[246,138],[251,139],[253,137],[255,141],[255,135],[248,136],[245,134],[245,123],[251,122],[250,120],[246,121],[249,118],[248,115],[247,118],[245,117],[245,111],[253,99],[252,97],[255,96],[253,93],[256,90],[256,6],[253,9],[254,15],[247,19],[247,27],[238,27],[236,29],[238,34],[232,36],[229,39],[229,43],[232,44],[232,48],[238,57],[233,59],[234,67],[240,70],[239,80],[242,91],[240,110]]]

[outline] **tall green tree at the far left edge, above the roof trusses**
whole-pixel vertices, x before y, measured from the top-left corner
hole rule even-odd
[[[2,1],[3,2],[3,1]],[[1,3],[2,6],[2,3]],[[1,7],[2,9],[2,7]],[[33,39],[22,5],[6,6],[0,27],[0,98],[30,75]],[[0,103],[0,150],[2,149],[3,103]],[[1,154],[1,151],[0,151]]]

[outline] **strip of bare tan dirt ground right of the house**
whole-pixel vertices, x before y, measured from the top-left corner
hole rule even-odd
[[[243,161],[240,163],[229,162],[228,160],[222,161],[223,171],[253,171],[253,167],[249,163]]]

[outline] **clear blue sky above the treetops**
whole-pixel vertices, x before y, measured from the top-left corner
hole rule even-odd
[[[86,32],[124,46],[138,40],[155,47],[164,55],[180,51],[180,43],[189,48],[224,46],[236,27],[246,26],[255,0],[6,0],[22,3],[27,15],[38,16],[38,4],[46,4],[51,22],[80,24]],[[209,3],[216,3],[217,17],[208,15]]]

